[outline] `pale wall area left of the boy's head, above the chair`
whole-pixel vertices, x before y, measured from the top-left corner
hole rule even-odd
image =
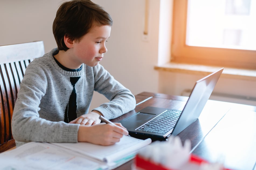
[[[45,52],[56,46],[52,22],[61,0],[1,0],[0,45],[43,40]]]

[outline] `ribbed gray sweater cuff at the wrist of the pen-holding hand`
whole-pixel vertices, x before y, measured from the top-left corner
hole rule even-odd
[[[76,143],[78,142],[78,129],[80,124],[64,124],[62,127],[62,142]]]

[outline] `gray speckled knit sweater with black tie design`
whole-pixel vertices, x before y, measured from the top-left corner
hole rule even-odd
[[[53,49],[26,68],[12,117],[12,134],[17,146],[30,141],[78,142],[79,124],[64,122],[73,90],[70,77],[80,77],[75,84],[77,117],[89,112],[94,90],[110,100],[93,109],[107,119],[135,108],[131,91],[117,82],[103,66],[82,64],[80,71],[65,71],[54,60],[53,54],[56,53],[58,50]]]

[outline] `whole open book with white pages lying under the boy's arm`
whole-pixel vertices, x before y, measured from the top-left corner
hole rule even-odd
[[[78,143],[29,142],[0,154],[0,170],[114,169],[133,159],[151,139],[123,136],[110,146]]]

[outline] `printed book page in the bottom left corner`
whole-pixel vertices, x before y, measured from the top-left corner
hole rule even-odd
[[[0,170],[73,170],[106,168],[104,162],[49,143],[30,142],[0,154]]]

